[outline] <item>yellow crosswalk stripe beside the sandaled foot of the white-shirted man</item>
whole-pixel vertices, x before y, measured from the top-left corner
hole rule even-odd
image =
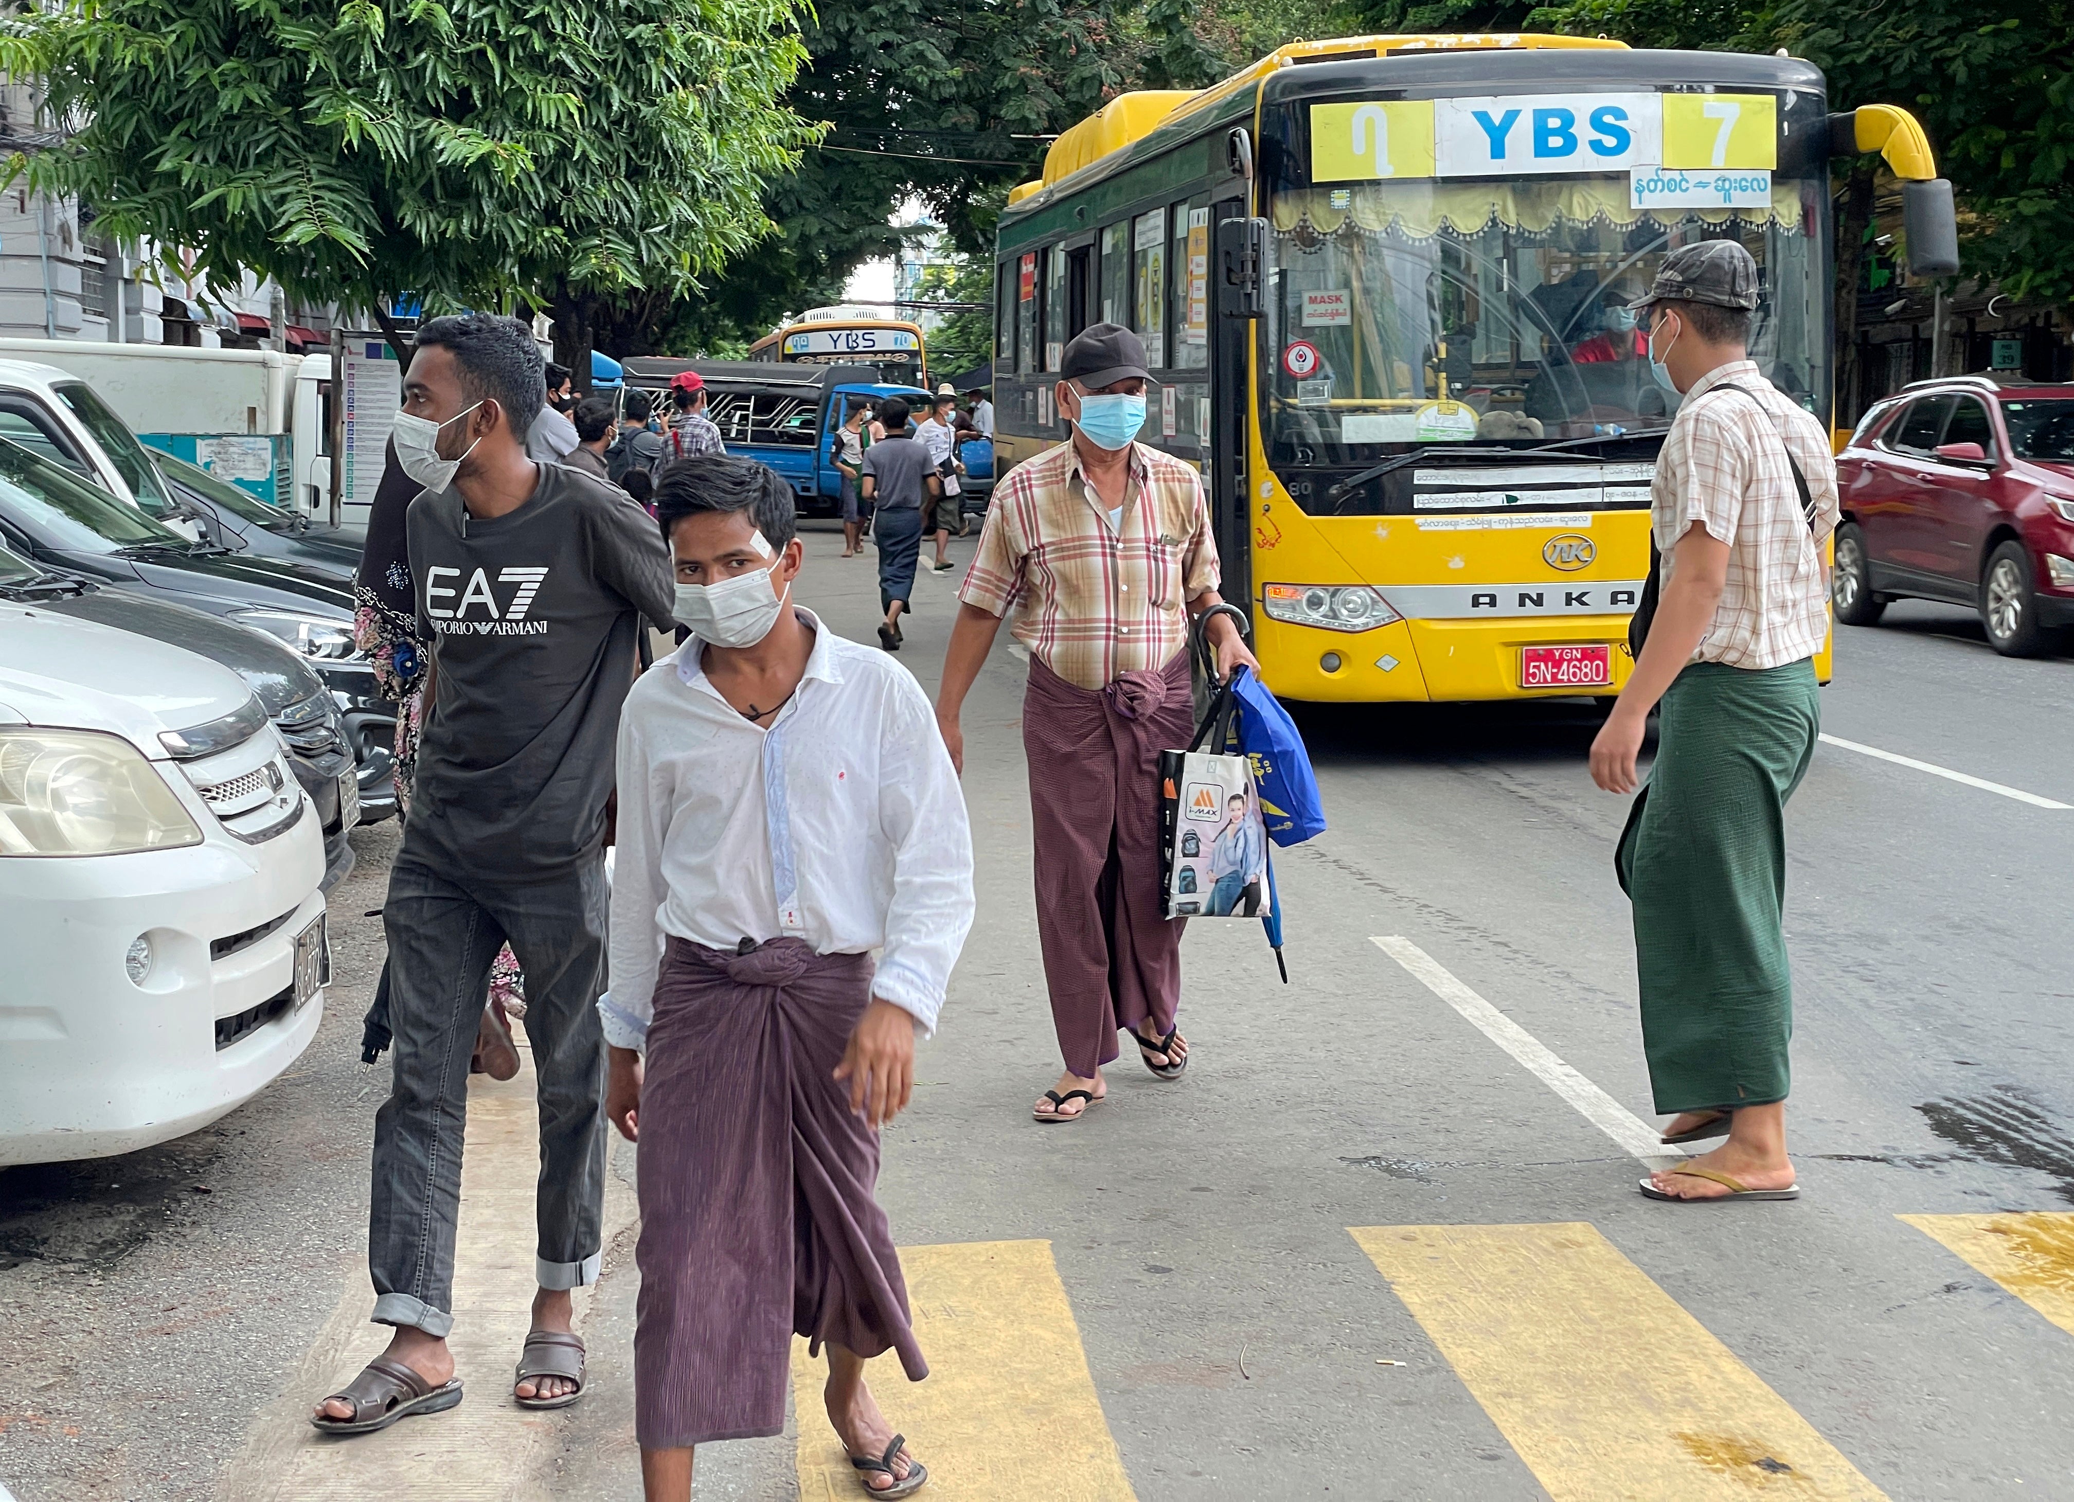
[[[929,1378],[871,1363],[871,1394],[944,1502],[1132,1502],[1095,1396],[1049,1241],[902,1247],[915,1338]],[[857,1502],[859,1473],[828,1427],[828,1363],[792,1342],[801,1502]]]

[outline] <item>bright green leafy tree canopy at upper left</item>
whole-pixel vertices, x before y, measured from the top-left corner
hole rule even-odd
[[[68,139],[15,164],[203,278],[375,311],[680,295],[769,232],[815,131],[782,104],[794,0],[95,0],[29,12],[0,71]]]

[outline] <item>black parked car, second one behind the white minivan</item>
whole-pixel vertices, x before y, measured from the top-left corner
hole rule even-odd
[[[396,811],[396,705],[375,697],[353,643],[353,589],[332,571],[195,544],[106,490],[0,438],[0,544],[29,562],[191,606],[261,631],[301,656],[344,712],[361,819]]]

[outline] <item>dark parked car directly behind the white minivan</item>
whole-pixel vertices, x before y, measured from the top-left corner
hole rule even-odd
[[[288,647],[187,606],[44,568],[6,548],[0,548],[0,600],[185,647],[245,678],[286,741],[295,780],[324,826],[324,890],[330,892],[353,869],[346,832],[359,822],[361,799],[346,722],[317,674]]]

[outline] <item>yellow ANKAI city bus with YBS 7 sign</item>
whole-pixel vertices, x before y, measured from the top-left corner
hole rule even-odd
[[[1066,436],[1066,340],[1128,324],[1141,438],[1203,471],[1278,695],[1609,695],[1678,409],[1626,305],[1665,251],[1742,241],[1753,357],[1827,421],[1829,158],[1875,149],[1910,270],[1954,272],[1921,127],[1831,116],[1794,58],[1350,37],[1126,93],[1002,214],[998,465]]]

